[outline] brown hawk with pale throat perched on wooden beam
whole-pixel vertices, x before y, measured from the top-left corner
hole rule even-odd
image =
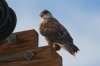
[[[42,18],[42,22],[39,30],[47,40],[49,46],[56,50],[64,48],[72,55],[75,55],[79,51],[78,47],[74,45],[73,39],[67,29],[53,17],[50,11],[43,10],[40,13],[40,17]]]

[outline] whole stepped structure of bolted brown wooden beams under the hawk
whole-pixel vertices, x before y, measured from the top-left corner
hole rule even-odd
[[[18,43],[0,43],[0,66],[62,66],[62,58],[49,46],[38,47],[35,30],[14,33]]]

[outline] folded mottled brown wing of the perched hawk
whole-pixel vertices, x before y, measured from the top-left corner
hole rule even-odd
[[[41,23],[40,33],[48,40],[54,41],[56,43],[73,43],[73,39],[67,29],[55,18],[50,18],[46,22],[44,21]]]

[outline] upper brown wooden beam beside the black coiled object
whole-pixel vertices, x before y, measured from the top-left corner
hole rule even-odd
[[[0,41],[0,54],[38,48],[38,34],[35,30],[27,30],[14,34],[18,38],[18,43],[8,43],[7,40]]]

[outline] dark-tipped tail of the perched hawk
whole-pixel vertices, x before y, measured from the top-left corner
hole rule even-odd
[[[65,45],[65,49],[73,56],[75,56],[75,53],[79,51],[79,48],[75,46],[74,44],[71,45]]]

